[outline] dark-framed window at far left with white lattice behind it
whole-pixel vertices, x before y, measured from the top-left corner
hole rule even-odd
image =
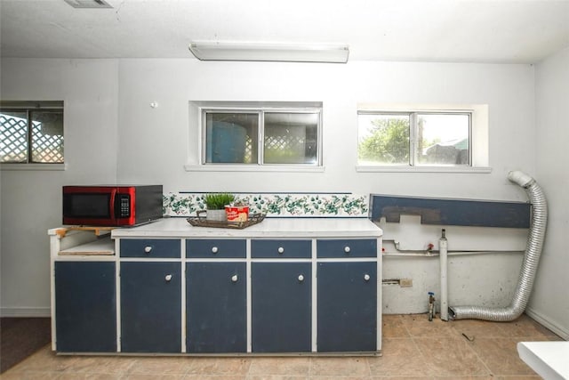
[[[62,164],[63,101],[0,102],[0,162]]]

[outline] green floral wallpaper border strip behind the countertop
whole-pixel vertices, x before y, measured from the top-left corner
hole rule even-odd
[[[166,193],[164,215],[193,216],[204,210],[205,193]],[[369,196],[351,193],[262,193],[236,194],[236,200],[249,205],[250,213],[290,217],[367,217]]]

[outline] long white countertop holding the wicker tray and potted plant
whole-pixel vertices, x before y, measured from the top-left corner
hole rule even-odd
[[[367,218],[265,218],[243,230],[194,227],[186,218],[164,218],[112,230],[113,238],[379,238],[383,231]]]

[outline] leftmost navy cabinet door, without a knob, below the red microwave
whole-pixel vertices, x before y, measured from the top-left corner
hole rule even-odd
[[[115,263],[55,262],[58,352],[116,352]]]

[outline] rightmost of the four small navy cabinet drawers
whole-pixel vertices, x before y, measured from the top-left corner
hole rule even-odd
[[[317,240],[319,258],[376,257],[377,239],[322,239]]]

